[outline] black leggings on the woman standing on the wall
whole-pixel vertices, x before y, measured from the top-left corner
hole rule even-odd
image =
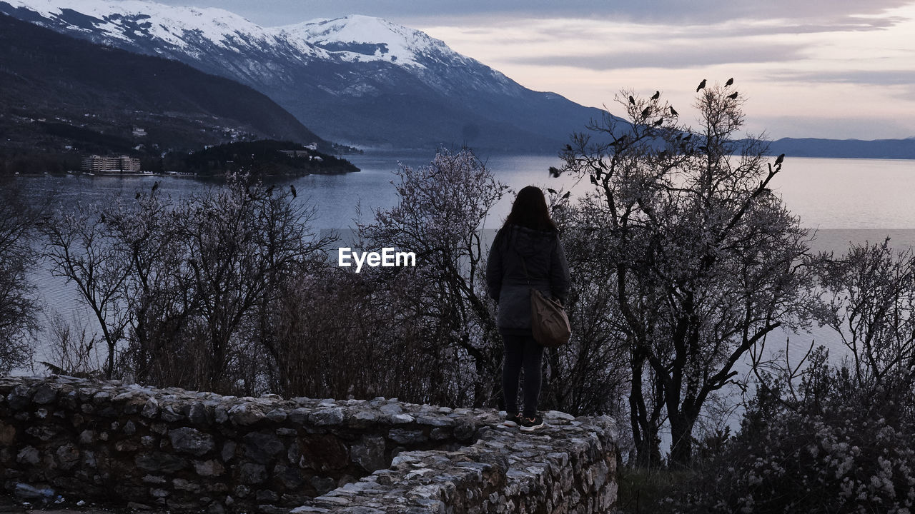
[[[505,394],[505,412],[521,412],[518,409],[518,379],[524,369],[524,410],[526,418],[537,413],[540,398],[540,367],[544,360],[544,347],[532,336],[511,336],[502,334],[505,348],[505,362],[502,364],[502,391]]]

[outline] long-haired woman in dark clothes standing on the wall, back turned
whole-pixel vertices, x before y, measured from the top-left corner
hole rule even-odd
[[[499,305],[496,324],[502,336],[505,360],[502,391],[505,422],[525,432],[544,426],[537,413],[544,348],[533,340],[531,293],[535,287],[565,304],[569,270],[556,225],[546,208],[544,192],[524,187],[518,192],[505,224],[492,242],[486,266],[490,296]],[[524,370],[523,409],[518,408],[518,381]]]

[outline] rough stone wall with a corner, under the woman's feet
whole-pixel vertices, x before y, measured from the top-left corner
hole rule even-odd
[[[547,412],[236,398],[72,377],[0,379],[7,492],[229,512],[606,512],[615,427]]]

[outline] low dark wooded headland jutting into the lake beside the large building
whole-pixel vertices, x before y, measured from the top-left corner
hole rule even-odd
[[[212,146],[191,154],[173,152],[163,159],[164,171],[208,177],[228,172],[254,177],[301,176],[359,171],[350,161],[289,141],[245,141]]]

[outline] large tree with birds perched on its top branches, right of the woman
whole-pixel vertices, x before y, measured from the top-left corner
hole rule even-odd
[[[563,152],[564,171],[595,186],[585,201],[607,244],[595,265],[613,271],[604,287],[630,348],[630,424],[643,462],[656,451],[652,420],[662,408],[671,460],[688,463],[710,395],[731,383],[750,348],[801,322],[809,305],[799,263],[807,234],[770,191],[781,157],[772,166],[762,141],[737,139],[743,112],[728,88],[697,92],[695,132],[658,97],[622,91],[629,123],[608,115],[589,127],[593,140],[575,134]],[[638,388],[648,369],[651,382]]]

